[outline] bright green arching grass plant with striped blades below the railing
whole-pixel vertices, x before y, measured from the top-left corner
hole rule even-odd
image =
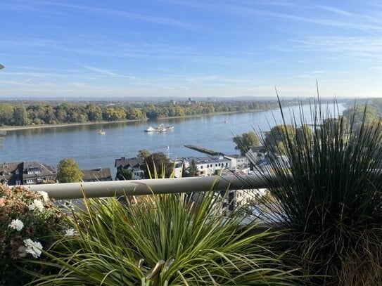
[[[77,235],[58,242],[32,285],[296,285],[269,241],[277,233],[240,227],[213,192],[191,202],[184,193],[87,199],[74,214]]]

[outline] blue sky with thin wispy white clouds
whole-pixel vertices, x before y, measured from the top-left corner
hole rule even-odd
[[[381,1],[1,0],[1,98],[382,96]]]

